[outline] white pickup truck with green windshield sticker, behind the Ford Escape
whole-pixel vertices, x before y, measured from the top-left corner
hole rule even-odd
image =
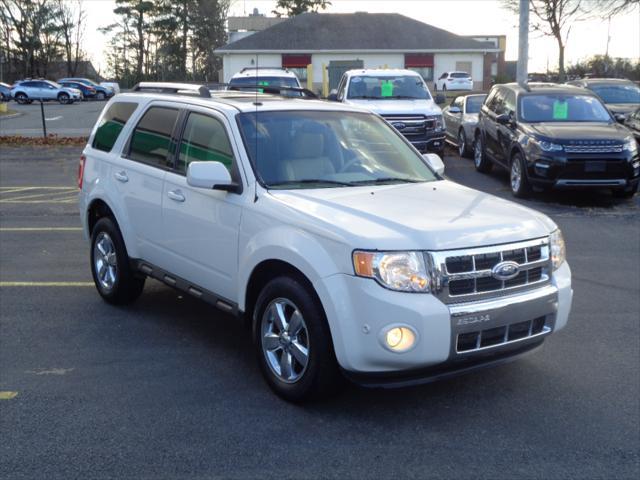
[[[329,100],[366,108],[382,116],[420,152],[444,151],[442,110],[422,77],[411,70],[346,72]]]

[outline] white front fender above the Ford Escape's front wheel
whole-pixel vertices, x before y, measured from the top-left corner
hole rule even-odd
[[[329,275],[344,272],[349,264],[348,248],[335,240],[318,238],[290,225],[259,230],[240,246],[238,298],[245,310],[249,279],[256,266],[267,260],[286,262],[300,270],[312,284]]]

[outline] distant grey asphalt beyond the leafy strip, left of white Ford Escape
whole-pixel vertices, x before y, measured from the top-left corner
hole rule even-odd
[[[60,137],[88,137],[105,103],[104,101],[94,100],[75,102],[72,105],[44,102],[47,134],[55,134]],[[31,105],[10,102],[8,106],[18,115],[10,118],[0,117],[0,136],[42,136],[40,102],[33,102]]]

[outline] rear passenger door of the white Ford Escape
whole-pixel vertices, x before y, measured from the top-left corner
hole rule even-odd
[[[136,123],[112,170],[113,183],[125,205],[140,258],[162,266],[162,191],[172,166],[173,137],[180,109],[152,102]]]

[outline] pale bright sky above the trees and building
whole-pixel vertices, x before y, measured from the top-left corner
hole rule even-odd
[[[585,0],[589,2],[590,0]],[[115,1],[84,0],[87,11],[86,50],[94,66],[103,73],[107,36],[98,29],[113,23]],[[275,0],[233,0],[229,14],[242,16],[254,8],[271,15]],[[501,7],[500,0],[332,0],[327,13],[400,13],[459,35],[507,35],[507,60],[518,55],[518,18]],[[576,22],[571,28],[565,52],[566,64],[594,54],[604,54],[610,32],[609,55],[640,58],[640,7],[611,20],[591,19]],[[529,36],[529,72],[557,68],[555,40],[537,33]]]

